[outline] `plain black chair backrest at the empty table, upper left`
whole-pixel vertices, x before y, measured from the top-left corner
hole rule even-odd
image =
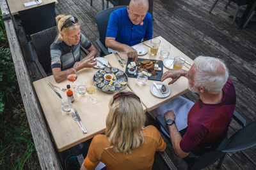
[[[39,31],[54,27],[55,2],[19,11],[19,17],[28,37]]]

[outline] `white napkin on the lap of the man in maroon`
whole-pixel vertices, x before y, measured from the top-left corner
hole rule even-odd
[[[177,97],[168,103],[164,103],[159,106],[155,110],[149,111],[152,113],[151,115],[162,115],[164,117],[164,113],[168,110],[173,110],[175,113],[175,124],[177,126],[178,131],[185,129],[188,126],[188,112],[192,108],[195,103],[189,101],[184,97]]]

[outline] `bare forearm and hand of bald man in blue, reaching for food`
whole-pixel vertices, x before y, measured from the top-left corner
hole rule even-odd
[[[129,58],[135,59],[136,61],[138,60],[138,53],[134,48],[129,45],[118,43],[115,38],[106,37],[105,44],[113,50],[125,52]]]

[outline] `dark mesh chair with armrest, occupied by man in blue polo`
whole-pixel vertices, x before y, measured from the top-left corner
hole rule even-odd
[[[100,38],[96,40],[96,43],[100,46],[100,55],[109,55],[108,49],[105,45],[106,33],[108,28],[108,20],[111,12],[119,9],[124,8],[125,6],[115,6],[113,8],[108,8],[106,10],[100,11],[96,16],[96,22],[99,29]]]

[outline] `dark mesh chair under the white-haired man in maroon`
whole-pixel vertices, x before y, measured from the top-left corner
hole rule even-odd
[[[223,141],[220,143],[220,146],[218,146],[216,150],[203,153],[202,155],[195,155],[193,152],[190,152],[188,157],[184,158],[184,160],[188,163],[188,169],[202,169],[204,167],[210,166],[217,160],[220,160],[218,163],[218,168],[220,168],[228,152],[237,152],[256,145],[256,122],[245,126],[246,120],[236,111],[234,111],[233,118],[243,128],[237,131],[230,138],[223,139]],[[164,133],[165,131],[169,134],[169,130],[168,125],[166,124],[166,120],[164,120],[161,115],[156,117],[156,127],[171,143],[170,137]],[[163,127],[164,130],[161,129],[161,127]]]

